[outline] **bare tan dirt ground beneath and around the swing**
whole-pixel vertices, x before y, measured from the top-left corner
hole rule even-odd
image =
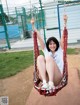
[[[0,96],[8,96],[9,105],[80,105],[80,54],[68,55],[68,85],[56,96],[42,96],[33,88],[33,68],[0,80]]]

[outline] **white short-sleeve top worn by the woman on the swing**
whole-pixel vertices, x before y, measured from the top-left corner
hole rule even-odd
[[[49,52],[47,48],[45,47],[43,50],[45,58],[50,55],[54,61],[56,62],[59,70],[61,71],[61,74],[63,74],[63,67],[64,67],[64,62],[63,62],[63,50],[61,47],[58,48],[58,50],[53,54],[51,51]]]

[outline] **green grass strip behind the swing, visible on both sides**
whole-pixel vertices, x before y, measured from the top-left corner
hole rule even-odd
[[[76,49],[69,48],[68,54],[76,54]],[[17,74],[33,65],[33,51],[0,53],[0,79]]]

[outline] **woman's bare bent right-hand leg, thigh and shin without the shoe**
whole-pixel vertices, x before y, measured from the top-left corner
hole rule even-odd
[[[53,85],[58,85],[62,79],[62,75],[51,56],[46,58],[46,70],[49,76],[49,81],[53,82]]]

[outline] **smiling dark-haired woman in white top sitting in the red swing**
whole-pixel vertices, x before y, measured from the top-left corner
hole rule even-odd
[[[41,35],[34,27],[35,20],[32,18],[31,24],[34,31],[37,33],[37,38],[40,42],[41,49],[44,53],[37,57],[37,67],[39,70],[39,76],[42,80],[42,90],[54,90],[63,77],[63,35],[61,41],[55,37],[50,37],[46,44],[44,44]]]

